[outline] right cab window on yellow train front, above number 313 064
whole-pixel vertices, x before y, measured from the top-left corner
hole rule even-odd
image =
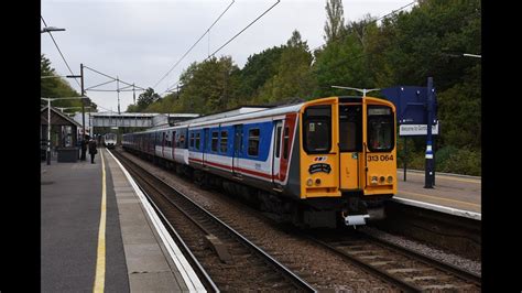
[[[371,152],[393,150],[394,120],[390,107],[368,106],[368,149]]]

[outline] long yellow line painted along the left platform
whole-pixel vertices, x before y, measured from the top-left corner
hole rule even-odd
[[[96,259],[96,279],[93,292],[104,292],[105,290],[105,226],[106,226],[106,202],[107,202],[107,185],[105,174],[105,161],[100,150],[101,158],[101,216],[100,227],[98,232],[98,257]]]

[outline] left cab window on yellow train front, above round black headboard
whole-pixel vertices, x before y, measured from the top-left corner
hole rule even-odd
[[[311,106],[303,118],[303,145],[306,153],[328,153],[331,149],[331,107]]]

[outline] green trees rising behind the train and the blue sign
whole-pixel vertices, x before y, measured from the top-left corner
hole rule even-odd
[[[326,14],[326,45],[314,55],[294,31],[286,44],[252,54],[241,69],[230,56],[193,63],[181,77],[180,93],[128,110],[209,113],[355,94],[334,85],[425,86],[432,76],[441,122],[437,170],[480,174],[481,65],[480,59],[461,56],[481,53],[480,1],[423,0],[381,23],[371,15],[345,23],[341,0],[327,0]],[[425,139],[410,138],[407,143],[409,166],[424,169]],[[402,144],[400,139],[401,164]]]

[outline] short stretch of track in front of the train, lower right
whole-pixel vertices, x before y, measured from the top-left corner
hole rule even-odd
[[[475,273],[363,232],[306,237],[404,291],[475,292],[481,289],[481,278]]]

